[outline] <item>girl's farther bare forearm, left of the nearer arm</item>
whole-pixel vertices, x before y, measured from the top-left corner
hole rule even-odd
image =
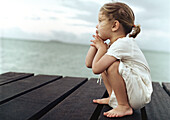
[[[92,68],[92,62],[93,62],[93,59],[94,59],[94,57],[96,55],[96,52],[97,52],[96,47],[91,46],[89,48],[89,51],[88,51],[87,56],[86,56],[86,61],[85,61],[86,66],[88,68]]]

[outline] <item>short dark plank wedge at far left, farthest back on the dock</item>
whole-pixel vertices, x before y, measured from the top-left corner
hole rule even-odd
[[[16,73],[16,72],[7,72],[0,74],[0,86],[8,84],[10,82],[15,82],[17,80],[22,80],[27,77],[33,76],[33,73]]]

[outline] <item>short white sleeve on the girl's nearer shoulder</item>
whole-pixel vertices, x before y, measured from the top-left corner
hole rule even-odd
[[[121,60],[130,57],[132,55],[131,53],[132,53],[132,46],[130,44],[130,41],[120,39],[115,41],[110,46],[106,55],[110,55]]]

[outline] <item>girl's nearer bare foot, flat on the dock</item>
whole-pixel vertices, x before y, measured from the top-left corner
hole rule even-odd
[[[108,111],[108,112],[104,112],[104,115],[107,117],[123,117],[126,115],[132,115],[133,114],[133,110],[130,106],[126,106],[126,105],[118,105],[116,108]]]

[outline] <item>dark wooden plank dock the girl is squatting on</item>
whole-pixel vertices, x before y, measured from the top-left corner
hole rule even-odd
[[[170,83],[153,82],[152,101],[133,115],[106,118],[108,105],[93,104],[107,97],[96,78],[8,72],[0,75],[0,120],[169,120]]]

